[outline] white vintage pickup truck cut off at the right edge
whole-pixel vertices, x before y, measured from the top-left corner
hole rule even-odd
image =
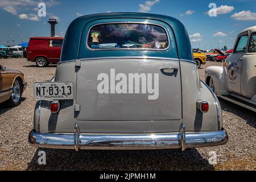
[[[238,36],[222,67],[208,67],[205,82],[217,97],[256,112],[256,26]]]

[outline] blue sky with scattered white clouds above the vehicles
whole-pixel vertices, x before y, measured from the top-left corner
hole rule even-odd
[[[46,16],[42,6],[46,5]],[[210,3],[216,15],[209,16]],[[40,11],[40,14],[38,14]],[[106,12],[143,12],[172,16],[187,28],[193,48],[233,48],[236,36],[256,26],[255,0],[0,0],[0,45],[28,42],[32,36],[50,36],[49,18],[56,18],[56,35],[64,37],[72,20],[79,16]],[[40,15],[40,16],[39,16]],[[14,40],[14,42],[13,42]]]

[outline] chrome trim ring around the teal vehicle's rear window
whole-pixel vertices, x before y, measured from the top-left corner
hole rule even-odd
[[[148,49],[148,48],[108,48],[108,49],[92,49],[88,46],[88,38],[89,38],[89,34],[90,34],[90,30],[92,30],[93,27],[101,25],[101,24],[151,24],[151,25],[155,25],[155,26],[159,26],[162,27],[164,29],[164,31],[166,31],[166,35],[167,35],[167,39],[168,39],[168,47],[164,48],[164,49]],[[86,48],[89,49],[90,51],[117,51],[117,50],[121,50],[121,51],[167,51],[170,48],[170,35],[168,30],[166,29],[166,27],[162,26],[161,24],[158,23],[148,23],[148,22],[102,22],[102,23],[97,23],[97,24],[93,24],[93,26],[91,26],[89,28],[89,31],[87,33],[87,37],[86,37]]]

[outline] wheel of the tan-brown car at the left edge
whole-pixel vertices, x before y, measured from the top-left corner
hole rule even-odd
[[[16,107],[20,104],[22,98],[22,86],[18,79],[14,80],[13,92],[11,92],[11,97],[7,101],[7,105],[10,107]]]

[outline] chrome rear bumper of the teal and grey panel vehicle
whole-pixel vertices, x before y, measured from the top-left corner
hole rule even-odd
[[[74,134],[37,133],[32,130],[28,142],[35,147],[78,150],[152,150],[218,146],[228,142],[223,129],[212,132],[159,134]]]

